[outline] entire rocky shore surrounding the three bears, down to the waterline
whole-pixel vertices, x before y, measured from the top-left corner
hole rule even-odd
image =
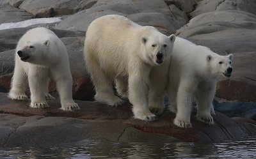
[[[253,0],[246,3],[241,0],[1,1],[0,24],[35,17],[61,17],[62,21],[0,30],[0,146],[101,139],[215,142],[255,135],[256,13],[253,8],[256,8]],[[216,91],[217,97],[234,102],[214,103],[218,111],[214,116],[216,125],[208,126],[192,117],[193,128],[180,129],[172,123],[175,114],[168,111],[156,122],[145,122],[132,119],[129,103],[116,108],[92,102],[94,90],[83,62],[84,35],[92,20],[107,14],[124,15],[140,25],[155,26],[164,34],[177,33],[221,55],[234,54],[234,73],[228,80],[220,79]],[[49,101],[52,105],[49,109],[31,109],[27,102],[6,98],[17,42],[28,29],[37,26],[52,29],[65,43],[74,80],[74,99],[81,111],[63,112],[58,109],[58,100]],[[56,96],[53,82],[50,91]]]

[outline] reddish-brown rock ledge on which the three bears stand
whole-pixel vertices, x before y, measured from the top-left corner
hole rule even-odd
[[[51,105],[50,108],[33,109],[28,107],[29,101],[13,101],[6,98],[6,93],[0,93],[0,113],[16,114],[19,116],[76,117],[94,121],[95,124],[98,122],[108,124],[109,122],[115,121],[118,123],[116,125],[124,125],[126,128],[137,128],[142,132],[162,134],[166,137],[174,137],[188,142],[212,142],[256,134],[256,125],[252,121],[243,120],[241,118],[239,120],[233,120],[218,112],[216,112],[216,116],[214,116],[215,125],[205,125],[192,116],[191,123],[193,128],[182,129],[173,124],[175,114],[171,112],[164,112],[164,114],[159,116],[157,121],[154,122],[133,119],[131,104],[129,103],[125,103],[119,107],[108,107],[98,102],[77,100],[76,102],[79,104],[79,107],[81,107],[81,110],[65,112],[59,109],[61,106],[58,100],[48,100],[47,102]],[[100,128],[97,127],[97,130],[100,130]],[[131,139],[131,137],[125,137],[125,139]]]

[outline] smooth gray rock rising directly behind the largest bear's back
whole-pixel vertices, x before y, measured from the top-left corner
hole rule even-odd
[[[162,0],[100,0],[92,8],[68,17],[55,28],[86,31],[93,20],[108,14],[123,15],[139,24],[157,26],[159,29],[169,32],[175,31],[187,21],[182,11],[177,12],[177,9],[170,11]]]

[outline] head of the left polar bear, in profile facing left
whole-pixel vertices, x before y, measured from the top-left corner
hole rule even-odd
[[[49,50],[50,40],[40,42],[27,42],[25,47],[17,50],[17,54],[21,61],[39,64],[45,58]]]

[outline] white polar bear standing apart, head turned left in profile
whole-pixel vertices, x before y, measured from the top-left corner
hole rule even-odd
[[[15,54],[15,68],[9,97],[13,100],[28,100],[27,77],[31,93],[30,107],[49,107],[45,98],[49,77],[56,82],[62,110],[78,110],[72,99],[72,75],[65,45],[51,30],[36,27],[20,38]]]

